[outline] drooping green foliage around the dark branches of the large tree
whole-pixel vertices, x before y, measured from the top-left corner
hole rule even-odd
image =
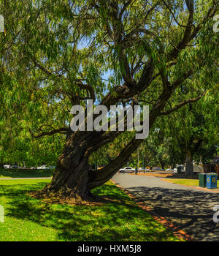
[[[218,34],[212,31],[212,18],[203,21],[214,1],[195,1],[193,32],[203,24],[171,61],[169,53],[183,39],[188,22],[185,1],[168,1],[168,8],[157,0],[131,1],[126,8],[126,1],[116,2],[118,6],[115,1],[0,0],[0,13],[5,18],[5,33],[0,34],[1,162],[54,165],[65,135],[35,142],[29,130],[38,134],[68,127],[72,105],[84,106],[91,96],[78,81],[91,86],[98,104],[108,92],[117,97],[115,88],[128,80],[127,69],[138,82],[149,59],[153,59],[155,77],[161,75],[137,94],[139,103],[147,103],[152,110],[164,90],[164,80],[172,84],[191,69],[192,75],[178,86],[164,110],[205,92],[200,112],[204,111],[208,125],[191,129],[196,117],[185,106],[176,116],[173,113],[169,119],[156,121],[153,128],[164,129],[168,124],[169,131],[186,141],[191,133],[214,141],[218,125]],[[119,13],[120,20],[115,19]],[[101,165],[109,162],[133,136],[132,132],[120,135],[113,144],[95,152],[90,162],[97,158]],[[173,143],[174,136],[171,138]],[[166,149],[161,146],[158,151],[164,155]]]

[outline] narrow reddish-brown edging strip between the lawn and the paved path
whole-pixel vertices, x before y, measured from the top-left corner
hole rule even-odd
[[[183,230],[178,230],[178,228],[176,226],[174,226],[172,224],[172,222],[169,222],[169,220],[165,219],[164,217],[161,217],[157,212],[155,212],[149,206],[145,206],[143,202],[138,202],[137,198],[134,197],[134,195],[131,195],[126,189],[124,189],[123,187],[120,187],[120,185],[115,183],[115,181],[112,181],[112,179],[110,179],[110,181],[113,184],[115,184],[116,187],[123,190],[123,192],[125,192],[126,195],[131,197],[131,199],[133,199],[137,203],[139,208],[142,208],[142,210],[147,211],[147,213],[150,214],[150,216],[153,217],[153,219],[155,219],[157,222],[161,223],[161,225],[163,225],[167,229],[171,230],[172,233],[174,234],[174,236],[177,236],[177,238],[180,238],[180,239],[184,239],[185,241],[194,241],[192,236],[188,235]]]

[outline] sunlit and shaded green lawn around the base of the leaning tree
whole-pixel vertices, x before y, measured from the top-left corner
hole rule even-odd
[[[93,190],[115,200],[101,206],[48,204],[26,194],[48,181],[0,181],[0,241],[179,241],[111,182]]]

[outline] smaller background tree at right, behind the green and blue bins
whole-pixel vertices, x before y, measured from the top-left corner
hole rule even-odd
[[[161,120],[161,127],[167,138],[172,138],[172,145],[184,155],[185,173],[193,175],[193,159],[200,162],[215,154],[218,145],[218,86],[193,105],[187,105]],[[166,120],[166,121],[165,121]],[[209,152],[207,152],[209,151]],[[211,156],[210,156],[211,151]],[[199,161],[197,161],[199,158]]]

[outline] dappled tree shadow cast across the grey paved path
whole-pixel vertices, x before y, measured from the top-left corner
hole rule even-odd
[[[130,187],[128,191],[196,240],[219,240],[219,226],[213,221],[218,194],[161,187]]]

